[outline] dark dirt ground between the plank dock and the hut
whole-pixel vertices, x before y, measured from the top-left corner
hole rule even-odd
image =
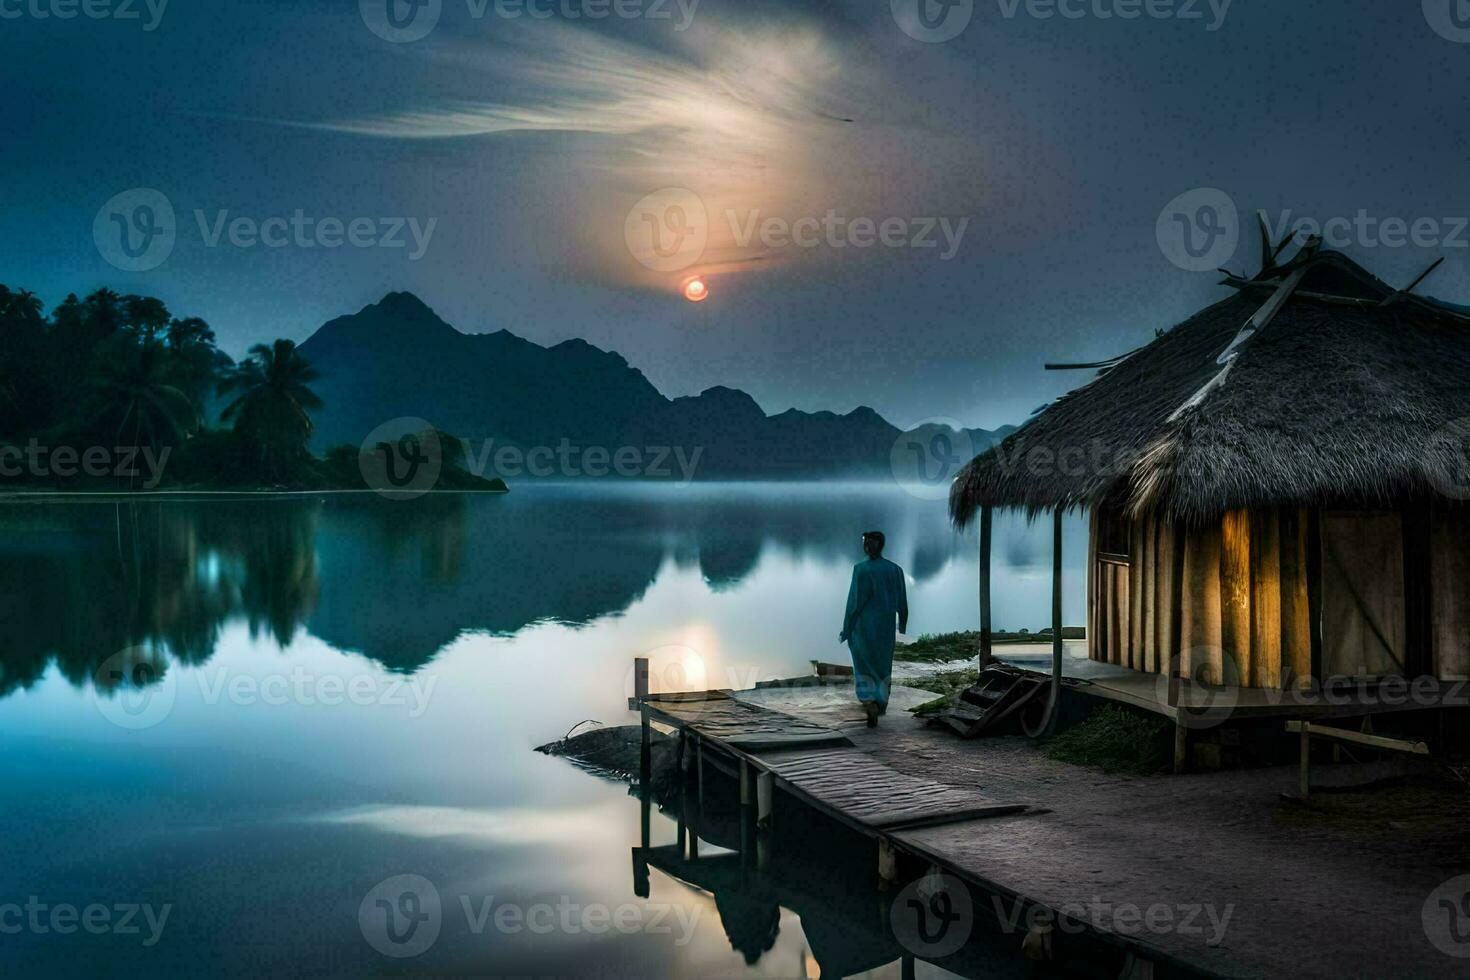
[[[756,696],[900,771],[1035,808],[898,835],[978,880],[1225,976],[1470,976],[1470,879],[1451,884],[1470,873],[1470,796],[1429,764],[1314,764],[1314,790],[1376,788],[1301,804],[1282,798],[1294,765],[1114,776],[925,727],[903,708],[932,695],[913,689],[867,729],[842,693]]]

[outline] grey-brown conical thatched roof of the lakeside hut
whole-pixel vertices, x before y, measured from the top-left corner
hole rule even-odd
[[[966,466],[950,491],[956,523],[980,505],[1038,513],[1104,501],[1204,520],[1464,482],[1470,317],[1316,247],[1226,282],[1233,295]],[[1266,326],[1245,335],[1252,317]]]

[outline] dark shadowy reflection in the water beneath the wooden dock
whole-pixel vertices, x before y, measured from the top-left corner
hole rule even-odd
[[[923,895],[922,862],[900,858],[900,880],[881,886],[870,837],[786,798],[773,826],[757,830],[732,777],[711,770],[703,785],[689,776],[650,801],[676,821],[675,840],[632,849],[632,887],[647,898],[666,880],[711,896],[747,967],[769,974],[781,968],[772,959],[789,959],[798,945],[807,977],[914,977],[920,964],[923,976],[1127,976],[1123,951],[1075,930],[1048,939],[1045,962],[1029,958],[1028,920],[1010,899],[957,879],[938,879],[948,921],[935,915],[914,929],[910,899]]]

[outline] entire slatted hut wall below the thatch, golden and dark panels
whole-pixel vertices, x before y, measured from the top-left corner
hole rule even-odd
[[[1094,660],[1245,688],[1310,683],[1311,613],[1302,508],[1230,511],[1183,527],[1133,522],[1125,563],[1097,552],[1092,516],[1088,645]],[[1404,548],[1395,511],[1322,516],[1322,666],[1327,677],[1414,673],[1470,677],[1470,510],[1439,510],[1424,544]],[[1421,563],[1427,645],[1411,661],[1405,558]],[[1410,576],[1413,579],[1413,576]],[[1423,602],[1420,602],[1423,605]]]

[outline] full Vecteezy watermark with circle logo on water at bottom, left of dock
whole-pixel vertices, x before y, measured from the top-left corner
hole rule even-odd
[[[625,902],[609,907],[601,902],[575,902],[562,895],[554,902],[495,901],[494,895],[460,895],[459,911],[463,927],[472,936],[488,929],[506,936],[532,933],[547,936],[601,936],[619,932],[625,936],[679,934],[676,946],[686,946],[703,914],[701,907],[686,908],[663,902]],[[447,920],[445,907],[434,882],[420,874],[397,874],[379,882],[357,907],[357,927],[363,939],[385,956],[404,959],[419,956],[438,940]]]

